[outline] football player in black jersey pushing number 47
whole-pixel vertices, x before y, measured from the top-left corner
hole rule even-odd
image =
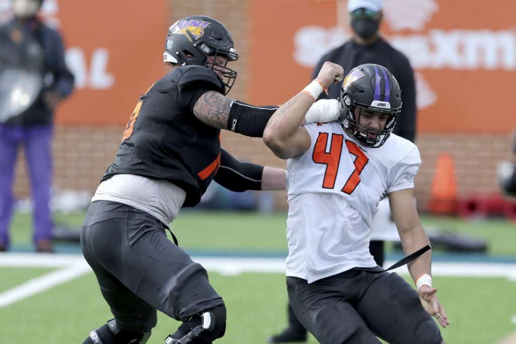
[[[169,28],[164,61],[172,71],[140,97],[83,223],[83,254],[115,317],[84,344],[145,343],[156,310],[183,322],[168,344],[223,336],[222,298],[165,230],[212,180],[234,191],[285,189],[284,170],[239,162],[220,147],[220,129],[262,137],[276,110],[225,96],[237,75],[228,62],[237,58],[229,31],[212,18]],[[328,122],[340,105],[321,101],[311,110],[307,122]]]

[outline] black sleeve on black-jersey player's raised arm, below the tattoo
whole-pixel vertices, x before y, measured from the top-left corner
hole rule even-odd
[[[228,129],[250,137],[263,137],[263,130],[277,106],[252,106],[233,101],[228,118]]]

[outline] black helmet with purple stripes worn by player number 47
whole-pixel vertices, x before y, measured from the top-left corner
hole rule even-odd
[[[353,137],[363,145],[378,148],[389,138],[396,124],[401,111],[401,90],[388,69],[379,64],[365,63],[353,68],[344,78],[340,101],[343,127],[350,129]],[[358,117],[356,108],[359,109]],[[383,130],[360,125],[363,110],[388,113]]]

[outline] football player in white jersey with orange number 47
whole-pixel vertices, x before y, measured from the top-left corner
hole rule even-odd
[[[359,65],[344,80],[341,119],[301,126],[319,94],[342,76],[340,65],[326,62],[264,132],[272,152],[288,159],[289,301],[321,343],[443,343],[430,317],[449,324],[432,287],[430,251],[409,264],[416,292],[378,267],[368,250],[386,196],[405,252],[429,244],[413,195],[419,151],[392,134],[401,109],[396,79],[381,65]]]

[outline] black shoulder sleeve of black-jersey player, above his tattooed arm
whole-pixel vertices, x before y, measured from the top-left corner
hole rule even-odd
[[[222,80],[209,68],[188,66],[182,70],[177,81],[178,104],[180,108],[192,112],[201,95],[208,91],[224,94]]]

